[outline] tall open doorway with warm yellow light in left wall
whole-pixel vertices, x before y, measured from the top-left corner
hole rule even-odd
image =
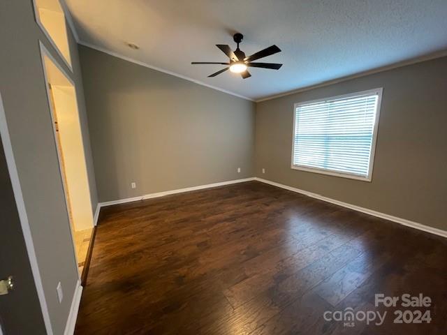
[[[80,275],[94,228],[75,84],[41,44],[54,140]]]

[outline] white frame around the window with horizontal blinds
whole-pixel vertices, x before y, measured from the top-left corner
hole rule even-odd
[[[381,110],[382,92],[383,92],[383,87],[379,87],[376,89],[368,89],[366,91],[358,91],[358,92],[353,92],[353,93],[349,93],[349,94],[342,94],[340,96],[330,96],[327,98],[321,98],[321,99],[316,99],[316,100],[312,100],[312,101],[302,101],[300,103],[294,103],[293,104],[293,124],[292,124],[291,169],[305,171],[305,172],[314,172],[314,173],[318,173],[318,174],[328,174],[330,176],[335,176],[335,177],[343,177],[343,178],[371,182],[372,181],[372,170],[374,168],[374,156],[376,153],[377,132],[379,131],[379,119],[380,119],[379,116],[380,116],[380,110]],[[350,98],[350,97],[366,95],[366,94],[377,94],[376,117],[374,119],[374,128],[373,128],[373,133],[372,133],[371,152],[369,154],[369,167],[368,167],[367,176],[362,176],[360,174],[354,174],[354,173],[350,173],[350,172],[337,172],[337,171],[332,171],[332,170],[326,170],[323,168],[314,168],[309,165],[295,165],[295,164],[293,164],[293,157],[295,154],[296,110],[298,107],[300,107],[302,105],[307,105],[309,103],[321,103],[323,101]]]

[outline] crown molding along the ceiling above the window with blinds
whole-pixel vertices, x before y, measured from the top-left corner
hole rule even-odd
[[[301,87],[300,89],[294,89],[292,91],[286,91],[284,93],[274,94],[272,96],[267,96],[265,98],[259,98],[259,99],[255,100],[255,103],[261,103],[263,101],[273,100],[273,99],[276,99],[276,98],[281,98],[283,96],[291,96],[292,94],[298,94],[298,93],[301,93],[301,92],[310,91],[312,89],[318,89],[320,87],[325,87],[325,86],[330,86],[332,84],[337,84],[339,82],[346,82],[348,80],[356,79],[356,78],[359,78],[359,77],[365,77],[366,75],[373,75],[374,73],[380,73],[380,72],[384,72],[384,71],[387,71],[387,70],[393,70],[394,68],[402,68],[403,66],[417,64],[417,63],[421,63],[423,61],[430,61],[432,59],[437,59],[437,58],[441,58],[441,57],[445,57],[445,56],[447,56],[447,50],[441,50],[441,51],[438,51],[438,52],[433,52],[433,53],[426,54],[424,56],[416,57],[416,58],[413,58],[413,59],[407,59],[406,61],[399,61],[399,62],[394,63],[394,64],[381,66],[379,68],[374,68],[372,70],[366,70],[366,71],[362,71],[362,72],[359,72],[359,73],[354,73],[353,75],[347,75],[345,77],[339,77],[339,78],[336,78],[336,79],[327,80],[325,82],[320,82],[318,84],[314,84],[314,85],[310,85],[310,86],[306,86],[306,87]]]

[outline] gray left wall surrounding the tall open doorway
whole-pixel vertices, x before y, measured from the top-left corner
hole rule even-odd
[[[0,92],[54,334],[64,332],[78,273],[45,91],[39,40],[75,81],[92,208],[96,208],[97,202],[78,50],[71,32],[69,38],[73,73],[66,68],[36,24],[32,1],[0,0],[0,42],[3,46],[0,49]],[[64,290],[61,304],[56,294],[59,281]]]

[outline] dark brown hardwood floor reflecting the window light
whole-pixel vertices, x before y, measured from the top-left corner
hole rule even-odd
[[[345,308],[387,315],[323,318]],[[427,335],[446,318],[447,239],[252,181],[101,209],[75,334]]]

